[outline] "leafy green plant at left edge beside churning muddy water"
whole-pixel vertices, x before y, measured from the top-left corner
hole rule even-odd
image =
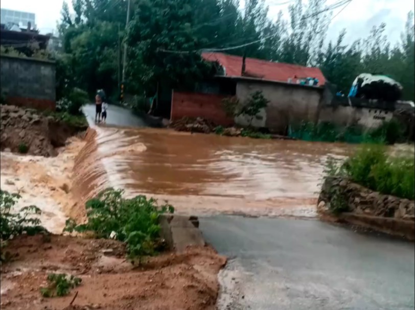
[[[34,216],[39,216],[40,209],[36,206],[20,208],[17,212],[13,210],[17,201],[21,198],[18,194],[10,194],[0,189],[0,247],[1,261],[7,261],[10,253],[5,251],[7,240],[26,232],[34,235],[39,232],[46,232],[40,226],[40,220]]]

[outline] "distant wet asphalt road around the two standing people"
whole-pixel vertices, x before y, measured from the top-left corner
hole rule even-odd
[[[95,104],[83,106],[82,111],[86,115],[88,122],[95,122]],[[114,105],[108,105],[106,124],[126,127],[144,127],[148,125],[143,118],[135,116],[130,110]]]

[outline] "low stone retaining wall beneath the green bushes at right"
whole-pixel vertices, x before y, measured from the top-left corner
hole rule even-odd
[[[346,208],[341,214],[333,214],[331,204],[334,199]],[[382,195],[348,179],[325,179],[318,198],[317,212],[335,216],[339,221],[414,240],[415,201]]]

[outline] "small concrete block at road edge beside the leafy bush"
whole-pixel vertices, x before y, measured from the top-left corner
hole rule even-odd
[[[183,252],[189,246],[205,245],[197,217],[162,214],[160,227],[171,251]]]

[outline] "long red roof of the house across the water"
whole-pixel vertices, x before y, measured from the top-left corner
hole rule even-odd
[[[225,68],[227,77],[241,77],[242,57],[227,55],[223,53],[202,53],[203,59],[207,61],[218,61]],[[287,82],[289,78],[296,83],[295,77],[317,78],[318,86],[326,83],[326,78],[319,68],[304,67],[282,62],[271,62],[255,58],[246,58],[245,77],[259,78],[269,81]]]

